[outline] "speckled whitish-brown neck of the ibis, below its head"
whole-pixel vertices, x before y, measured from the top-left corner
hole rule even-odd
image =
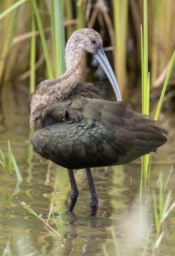
[[[79,82],[81,76],[80,63],[84,53],[83,51],[75,51],[75,49],[73,52],[65,52],[66,72],[56,79],[57,88],[55,92],[60,100],[66,99]]]

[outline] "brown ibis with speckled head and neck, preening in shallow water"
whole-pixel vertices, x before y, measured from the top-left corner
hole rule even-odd
[[[79,82],[86,52],[93,54],[107,74],[116,102],[96,95],[93,84]],[[102,38],[94,29],[78,29],[70,36],[65,66],[62,76],[42,81],[29,96],[30,125],[36,129],[31,143],[40,156],[68,169],[72,189],[68,211],[73,211],[79,195],[73,170],[86,169],[94,216],[98,196],[91,168],[126,164],[156,152],[167,141],[167,131],[122,101]]]

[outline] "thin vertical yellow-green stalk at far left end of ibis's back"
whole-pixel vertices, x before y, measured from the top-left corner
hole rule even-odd
[[[35,32],[35,20],[34,20],[34,12],[31,11],[31,75],[30,75],[30,93],[34,92],[35,88],[35,54],[36,54],[36,36],[34,35]]]

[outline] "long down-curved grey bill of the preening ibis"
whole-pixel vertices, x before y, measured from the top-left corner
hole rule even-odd
[[[102,66],[103,70],[105,71],[105,74],[107,74],[107,77],[109,78],[109,81],[112,84],[112,87],[116,94],[117,100],[121,101],[121,93],[119,90],[118,82],[116,80],[116,77],[114,76],[114,72],[112,71],[112,68],[110,67],[109,61],[107,60],[107,56],[105,55],[103,48],[98,49],[98,51],[96,51],[94,56]]]

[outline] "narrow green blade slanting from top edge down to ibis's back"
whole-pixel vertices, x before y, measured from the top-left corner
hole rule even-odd
[[[46,44],[45,35],[44,35],[44,31],[43,31],[42,20],[41,20],[41,17],[40,17],[40,13],[39,13],[39,10],[38,10],[36,0],[31,0],[31,1],[32,1],[32,4],[33,4],[33,10],[34,10],[34,13],[36,15],[36,21],[37,21],[38,28],[39,28],[39,31],[40,31],[40,36],[41,36],[42,45],[43,45],[43,52],[44,52],[45,61],[46,61],[46,65],[47,65],[47,72],[48,72],[49,78],[53,78],[54,76],[53,76],[53,73],[52,73],[52,66],[51,66],[51,63],[50,63],[49,51],[47,49],[47,44]]]

